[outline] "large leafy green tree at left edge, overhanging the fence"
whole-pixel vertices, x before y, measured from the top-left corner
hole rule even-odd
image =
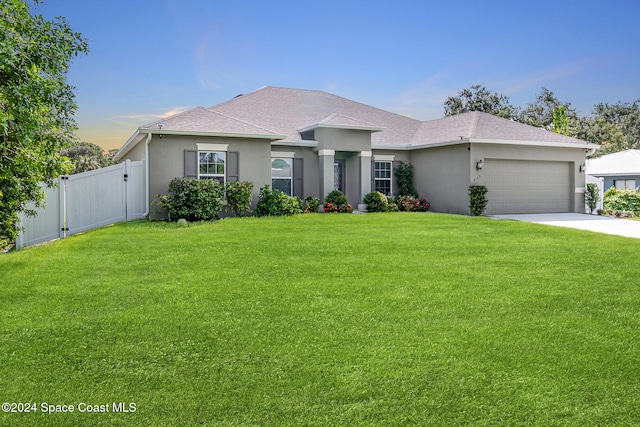
[[[27,203],[42,203],[39,183],[68,172],[62,149],[73,139],[76,104],[67,69],[87,51],[64,18],[0,0],[0,243],[15,239]]]

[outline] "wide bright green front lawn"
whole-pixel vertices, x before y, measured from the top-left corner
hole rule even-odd
[[[395,213],[129,223],[3,254],[0,399],[38,412],[0,424],[638,425],[639,250]]]

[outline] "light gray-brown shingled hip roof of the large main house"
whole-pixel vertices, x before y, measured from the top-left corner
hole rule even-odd
[[[142,126],[116,157],[142,140],[138,133],[254,137],[296,145],[309,143],[302,141],[301,132],[319,127],[370,131],[372,148],[410,149],[460,142],[596,147],[477,111],[422,122],[323,91],[266,86],[213,107],[198,107]]]

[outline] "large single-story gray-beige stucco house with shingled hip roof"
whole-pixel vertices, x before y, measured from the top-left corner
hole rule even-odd
[[[356,206],[372,190],[395,194],[404,161],[434,211],[470,214],[469,186],[486,185],[487,214],[500,214],[584,212],[585,155],[596,148],[481,112],[420,121],[323,91],[263,87],[141,126],[115,158],[146,160],[147,198],[175,177],[213,178],[253,182],[254,205],[269,184],[321,203],[339,189]]]

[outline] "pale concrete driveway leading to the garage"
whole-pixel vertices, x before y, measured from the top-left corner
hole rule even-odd
[[[579,213],[491,215],[498,219],[515,219],[537,224],[577,228],[597,233],[640,239],[640,221]]]

